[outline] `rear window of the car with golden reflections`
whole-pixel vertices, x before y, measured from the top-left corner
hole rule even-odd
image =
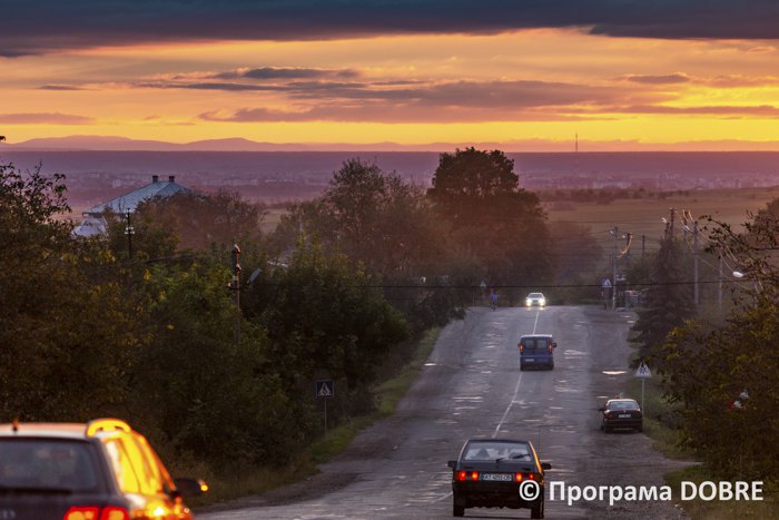
[[[0,488],[97,489],[92,448],[59,439],[0,439]]]

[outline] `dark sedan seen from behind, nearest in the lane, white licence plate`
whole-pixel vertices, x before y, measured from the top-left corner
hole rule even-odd
[[[470,439],[452,469],[452,514],[469,508],[530,509],[531,518],[544,518],[544,472],[530,441]]]

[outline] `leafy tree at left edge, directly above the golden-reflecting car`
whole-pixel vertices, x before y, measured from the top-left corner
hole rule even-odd
[[[86,420],[126,395],[132,310],[112,257],[71,238],[63,177],[0,165],[0,414]]]

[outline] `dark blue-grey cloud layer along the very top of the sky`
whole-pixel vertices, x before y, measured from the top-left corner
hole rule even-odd
[[[775,0],[55,0],[2,6],[0,56],[141,42],[317,40],[583,28],[613,37],[779,39]]]

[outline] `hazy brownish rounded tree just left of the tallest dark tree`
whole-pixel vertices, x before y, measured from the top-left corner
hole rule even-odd
[[[457,258],[424,192],[394,173],[349,159],[322,197],[293,205],[272,243],[283,251],[302,230],[328,252],[345,254],[377,276],[384,297],[422,331],[462,315],[471,295],[453,290],[479,284],[479,263]],[[423,282],[424,281],[424,282]],[[475,283],[474,283],[475,281]]]

